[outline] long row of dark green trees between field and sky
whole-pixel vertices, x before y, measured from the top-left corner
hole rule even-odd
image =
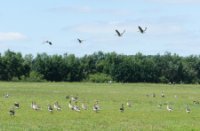
[[[0,54],[2,81],[92,81],[199,83],[200,56],[117,54],[28,54],[7,50]]]

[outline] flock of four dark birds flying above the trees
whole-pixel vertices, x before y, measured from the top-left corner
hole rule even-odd
[[[139,32],[141,33],[141,34],[144,34],[145,32],[146,32],[146,30],[147,30],[147,27],[145,27],[144,29],[141,27],[141,26],[138,26],[138,30],[139,30]],[[117,36],[118,37],[122,37],[123,35],[124,35],[124,33],[126,32],[126,30],[124,30],[123,32],[120,32],[119,30],[115,30],[115,32],[116,32],[116,34],[117,34]],[[80,38],[77,38],[77,41],[78,41],[78,43],[83,43],[85,40],[83,40],[83,39],[80,39]],[[49,44],[49,45],[53,45],[53,43],[51,42],[51,41],[49,41],[49,40],[46,40],[46,41],[44,41],[44,43],[47,43],[47,44]]]

